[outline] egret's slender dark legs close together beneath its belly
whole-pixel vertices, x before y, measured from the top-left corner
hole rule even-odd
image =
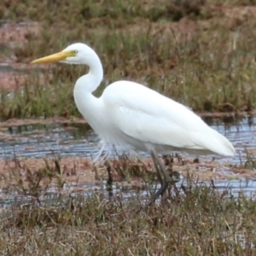
[[[161,182],[160,189],[154,195],[154,200],[155,200],[160,195],[163,195],[163,193],[167,189],[168,183],[170,181],[170,177],[169,177],[168,173],[166,172],[165,166],[163,165],[163,163],[161,162],[157,153],[154,150],[151,150],[151,156],[152,156],[152,159],[154,160],[154,164],[156,166],[156,171],[158,172],[158,176],[161,176],[160,171],[162,172],[162,174],[164,176],[164,178],[161,178],[162,182]],[[157,166],[159,166],[160,169],[158,169]]]

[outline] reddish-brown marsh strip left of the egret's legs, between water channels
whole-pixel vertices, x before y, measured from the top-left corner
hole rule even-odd
[[[8,193],[15,191],[19,195],[25,196],[31,195],[37,201],[40,196],[44,196],[44,193],[48,194],[49,189],[63,191],[64,187],[80,187],[80,183],[102,183],[106,179],[111,179],[108,182],[110,186],[129,190],[133,179],[138,179],[136,184],[138,189],[143,187],[143,183],[148,183],[149,187],[157,181],[153,166],[146,165],[142,160],[130,160],[124,155],[96,165],[85,158],[82,165],[79,166],[75,160],[61,159],[59,154],[53,152],[51,157],[40,161],[26,161],[26,159],[18,158],[5,160],[3,169],[4,172],[0,176],[0,187],[4,191]],[[88,177],[88,172],[93,172],[94,177]],[[80,175],[83,175],[84,178],[79,177]],[[73,177],[71,181],[69,177]]]

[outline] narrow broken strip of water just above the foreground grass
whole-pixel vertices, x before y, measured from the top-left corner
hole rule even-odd
[[[181,184],[186,187],[187,183],[186,180],[183,179],[176,183],[177,189],[180,188]],[[209,186],[210,183],[207,182],[199,182],[197,183],[198,186]],[[138,188],[138,187],[132,187],[132,186],[121,186],[121,185],[113,185],[112,195],[109,194],[107,189],[105,189],[105,182],[102,183],[102,186],[96,186],[95,183],[83,183],[83,184],[77,184],[79,188],[79,192],[70,192],[69,189],[71,189],[70,186],[68,188],[63,188],[61,195],[64,195],[63,192],[67,189],[67,195],[75,198],[78,195],[82,196],[88,196],[91,195],[93,192],[100,193],[106,199],[110,199],[111,196],[115,195],[122,195],[123,199],[129,199],[131,197],[133,198],[140,198],[141,200],[145,200],[145,202],[148,201],[149,198],[149,191],[145,188]],[[256,199],[256,181],[253,180],[247,180],[247,179],[241,179],[241,180],[218,180],[214,182],[214,186],[220,193],[224,193],[225,197],[238,197],[238,196],[247,196],[252,198],[253,200]],[[157,189],[160,188],[160,185],[154,186],[152,191],[150,193],[154,193]],[[68,192],[69,191],[69,192]],[[180,193],[183,193],[182,190],[180,190]],[[19,195],[17,192],[7,192],[0,189],[0,208],[1,207],[14,207],[15,205],[20,206],[26,205],[26,203],[30,202],[39,202],[40,204],[44,205],[55,205],[60,204],[60,192],[57,188],[49,188],[47,191],[44,192],[41,196],[38,198],[34,198],[31,195]],[[0,213],[1,214],[1,213]]]

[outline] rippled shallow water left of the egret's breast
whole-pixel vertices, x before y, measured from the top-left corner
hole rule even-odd
[[[98,137],[88,125],[21,125],[10,127],[0,140],[0,159],[43,158],[54,154],[84,156],[99,150]]]

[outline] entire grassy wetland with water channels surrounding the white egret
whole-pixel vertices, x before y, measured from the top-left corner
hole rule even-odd
[[[247,0],[3,0],[0,254],[256,255],[255,14]],[[199,113],[236,157],[174,155],[181,182],[145,207],[157,186],[148,155],[112,154],[110,196],[73,102],[86,67],[28,64],[74,42],[101,56],[96,96],[119,79],[145,84]]]

